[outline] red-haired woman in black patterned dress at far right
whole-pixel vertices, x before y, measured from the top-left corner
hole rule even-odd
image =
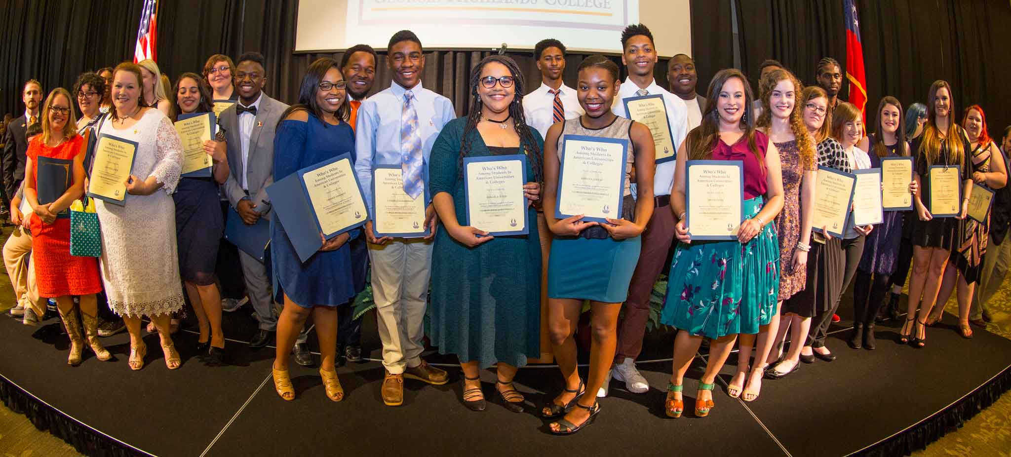
[[[927,318],[927,325],[940,321],[944,312],[944,303],[951,296],[951,289],[958,287],[958,330],[962,338],[973,338],[973,329],[969,327],[969,308],[973,300],[973,291],[980,279],[983,269],[983,255],[987,252],[987,241],[990,237],[990,206],[992,193],[989,189],[1000,189],[1007,184],[1007,170],[1004,160],[997,149],[997,144],[987,133],[987,117],[980,105],[966,108],[966,116],[961,121],[962,128],[969,133],[971,157],[973,159],[972,200],[966,219],[961,221],[957,245],[951,250],[951,258],[944,269],[944,278],[937,293],[939,306],[934,306]],[[997,160],[993,160],[997,158]],[[985,197],[990,196],[987,200]],[[957,282],[955,276],[958,276]]]

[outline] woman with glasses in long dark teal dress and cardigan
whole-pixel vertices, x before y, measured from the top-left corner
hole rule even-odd
[[[468,223],[463,159],[524,154],[525,196],[539,197],[540,133],[527,125],[521,97],[523,73],[512,59],[489,56],[470,75],[473,100],[466,117],[446,124],[429,160],[432,201],[442,224],[432,252],[432,344],[456,354],[463,368],[464,404],[484,409],[480,369],[497,363],[502,403],[522,413],[513,387],[518,367],[541,354],[541,242],[532,205],[528,235],[492,237]],[[519,189],[516,189],[519,190]]]

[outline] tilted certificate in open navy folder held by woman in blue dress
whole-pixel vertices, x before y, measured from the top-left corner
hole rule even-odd
[[[330,240],[369,218],[350,154],[298,170],[267,187],[299,260],[305,262]]]

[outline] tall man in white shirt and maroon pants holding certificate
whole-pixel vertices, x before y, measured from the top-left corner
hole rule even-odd
[[[618,348],[611,376],[625,381],[629,391],[643,393],[649,390],[649,383],[639,374],[634,362],[642,351],[653,283],[663,271],[674,239],[670,187],[674,179],[674,152],[688,131],[687,108],[683,100],[664,90],[653,78],[657,52],[649,28],[643,24],[626,27],[622,32],[622,49],[625,50],[622,62],[629,76],[622,83],[611,110],[649,127],[656,151],[656,172],[653,175],[654,211],[648,230],[642,234],[642,252],[629,285],[625,318],[618,328]],[[664,117],[666,122],[661,120]],[[638,167],[633,173],[636,170]],[[599,395],[607,395],[609,382],[604,383]]]

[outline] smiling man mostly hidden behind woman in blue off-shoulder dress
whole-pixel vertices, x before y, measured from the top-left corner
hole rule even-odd
[[[341,73],[348,82],[348,103],[351,114],[348,123],[352,128],[357,125],[358,108],[372,90],[376,79],[376,52],[368,44],[355,44],[344,53],[341,58]],[[365,276],[369,269],[369,249],[364,237],[358,237],[348,242],[351,249],[352,276],[355,280],[355,292],[365,289]],[[345,306],[337,308],[337,355],[348,362],[362,361],[362,316],[354,318],[354,300]]]

